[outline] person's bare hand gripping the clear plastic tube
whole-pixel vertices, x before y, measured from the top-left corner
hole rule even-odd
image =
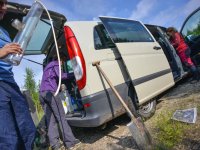
[[[8,54],[21,54],[22,49],[17,43],[9,43],[0,49],[0,58],[6,57]]]

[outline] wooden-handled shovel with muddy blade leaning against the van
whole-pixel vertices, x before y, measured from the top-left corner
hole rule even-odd
[[[127,125],[129,127],[129,130],[131,131],[133,138],[136,141],[136,144],[138,145],[138,148],[141,150],[147,150],[151,148],[151,137],[149,132],[147,131],[146,127],[144,126],[142,120],[140,117],[135,118],[133,113],[130,111],[122,97],[119,95],[115,87],[112,85],[111,81],[108,79],[104,71],[100,67],[100,62],[93,62],[93,66],[96,66],[97,70],[103,75],[106,82],[109,84],[110,88],[116,95],[117,99],[120,101],[120,103],[125,108],[126,112],[128,113],[129,117],[131,118],[131,122]]]

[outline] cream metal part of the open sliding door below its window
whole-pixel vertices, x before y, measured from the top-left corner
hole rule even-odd
[[[140,78],[155,77],[153,79],[149,78],[141,85],[134,86],[139,102],[142,103],[155,97],[159,94],[160,89],[166,90],[169,85],[174,85],[173,75],[166,56],[162,50],[156,51],[153,49],[154,43],[117,43],[116,45],[120,50],[133,84],[135,84],[134,81]],[[152,49],[149,49],[150,47]],[[161,72],[166,73],[162,74]],[[156,74],[160,74],[160,76]]]

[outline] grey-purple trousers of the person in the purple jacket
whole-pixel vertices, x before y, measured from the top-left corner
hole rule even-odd
[[[76,139],[65,118],[65,112],[60,98],[58,96],[54,97],[52,92],[42,92],[40,93],[40,101],[45,112],[48,137],[52,148],[59,145],[60,136],[57,122],[62,132],[64,144],[67,147],[73,146]]]

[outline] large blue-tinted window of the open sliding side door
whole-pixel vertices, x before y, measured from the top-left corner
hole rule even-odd
[[[115,43],[154,41],[138,21],[106,18],[103,22]]]

